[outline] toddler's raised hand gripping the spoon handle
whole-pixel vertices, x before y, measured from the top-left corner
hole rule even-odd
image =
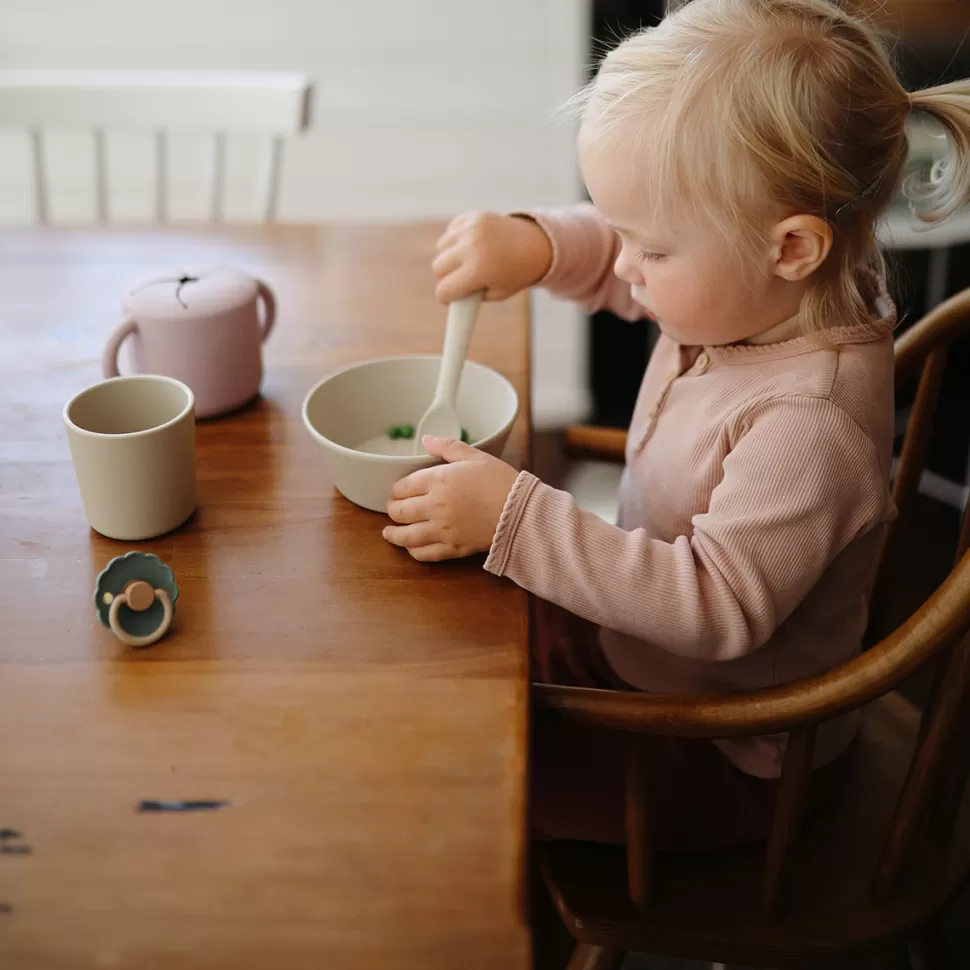
[[[504,300],[534,286],[552,263],[552,243],[531,219],[495,212],[467,212],[452,220],[438,240],[431,264],[435,295],[452,303],[477,290]]]

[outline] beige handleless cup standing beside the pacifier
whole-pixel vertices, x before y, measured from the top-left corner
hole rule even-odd
[[[195,399],[181,381],[144,374],[81,391],[64,407],[91,528],[150,539],[195,510]]]

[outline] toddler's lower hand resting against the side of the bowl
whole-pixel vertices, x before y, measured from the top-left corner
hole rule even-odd
[[[423,444],[449,464],[422,468],[394,485],[387,514],[400,524],[387,526],[384,538],[421,562],[486,552],[519,473],[454,438],[426,437]]]

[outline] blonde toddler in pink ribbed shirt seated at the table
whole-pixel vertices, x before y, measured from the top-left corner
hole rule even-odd
[[[486,569],[575,617],[537,648],[547,680],[704,693],[821,674],[860,650],[894,515],[895,313],[874,227],[913,112],[949,139],[905,186],[914,211],[970,202],[970,83],[907,93],[830,0],[693,0],[613,50],[575,105],[592,205],[462,216],[433,268],[444,302],[541,285],[657,322],[619,522],[429,440],[448,464],[399,483],[385,536],[421,560],[487,550]],[[820,728],[816,780],[855,731]],[[615,745],[539,745],[540,833],[621,839]],[[784,746],[658,741],[660,844],[763,837]]]

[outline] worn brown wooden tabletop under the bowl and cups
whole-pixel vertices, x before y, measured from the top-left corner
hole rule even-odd
[[[438,231],[0,232],[0,829],[22,833],[0,850],[0,966],[527,965],[527,597],[480,558],[389,546],[300,420],[327,372],[440,348]],[[85,522],[61,409],[99,379],[127,283],[213,262],[276,291],[263,397],[199,425],[193,520],[113,542]],[[516,465],[527,329],[524,298],[489,305],[470,352],[519,391]],[[129,548],[180,587],[142,651],[92,602]]]

